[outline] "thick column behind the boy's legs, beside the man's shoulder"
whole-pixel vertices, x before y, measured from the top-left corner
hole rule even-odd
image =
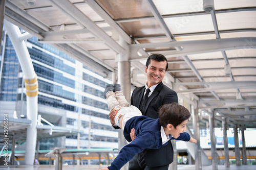
[[[126,49],[125,53],[119,54],[118,56],[118,83],[121,84],[121,90],[125,96],[125,99],[130,103],[131,100],[131,63],[129,61],[129,45],[125,40],[119,36],[119,44]],[[119,129],[118,131],[118,148],[120,149],[126,144],[126,140],[123,137],[123,131]],[[128,169],[128,164],[126,163],[121,170]]]

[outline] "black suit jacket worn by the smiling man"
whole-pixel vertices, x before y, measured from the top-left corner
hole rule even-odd
[[[131,98],[131,105],[141,108],[140,111],[142,112],[142,115],[158,118],[158,109],[160,106],[172,102],[178,103],[177,93],[165,86],[162,82],[157,85],[146,104],[143,104],[142,102],[144,91],[145,86],[136,88],[133,91]],[[173,155],[172,142],[169,142],[158,150],[146,149],[143,151],[145,163],[150,167],[164,166],[172,163]]]

